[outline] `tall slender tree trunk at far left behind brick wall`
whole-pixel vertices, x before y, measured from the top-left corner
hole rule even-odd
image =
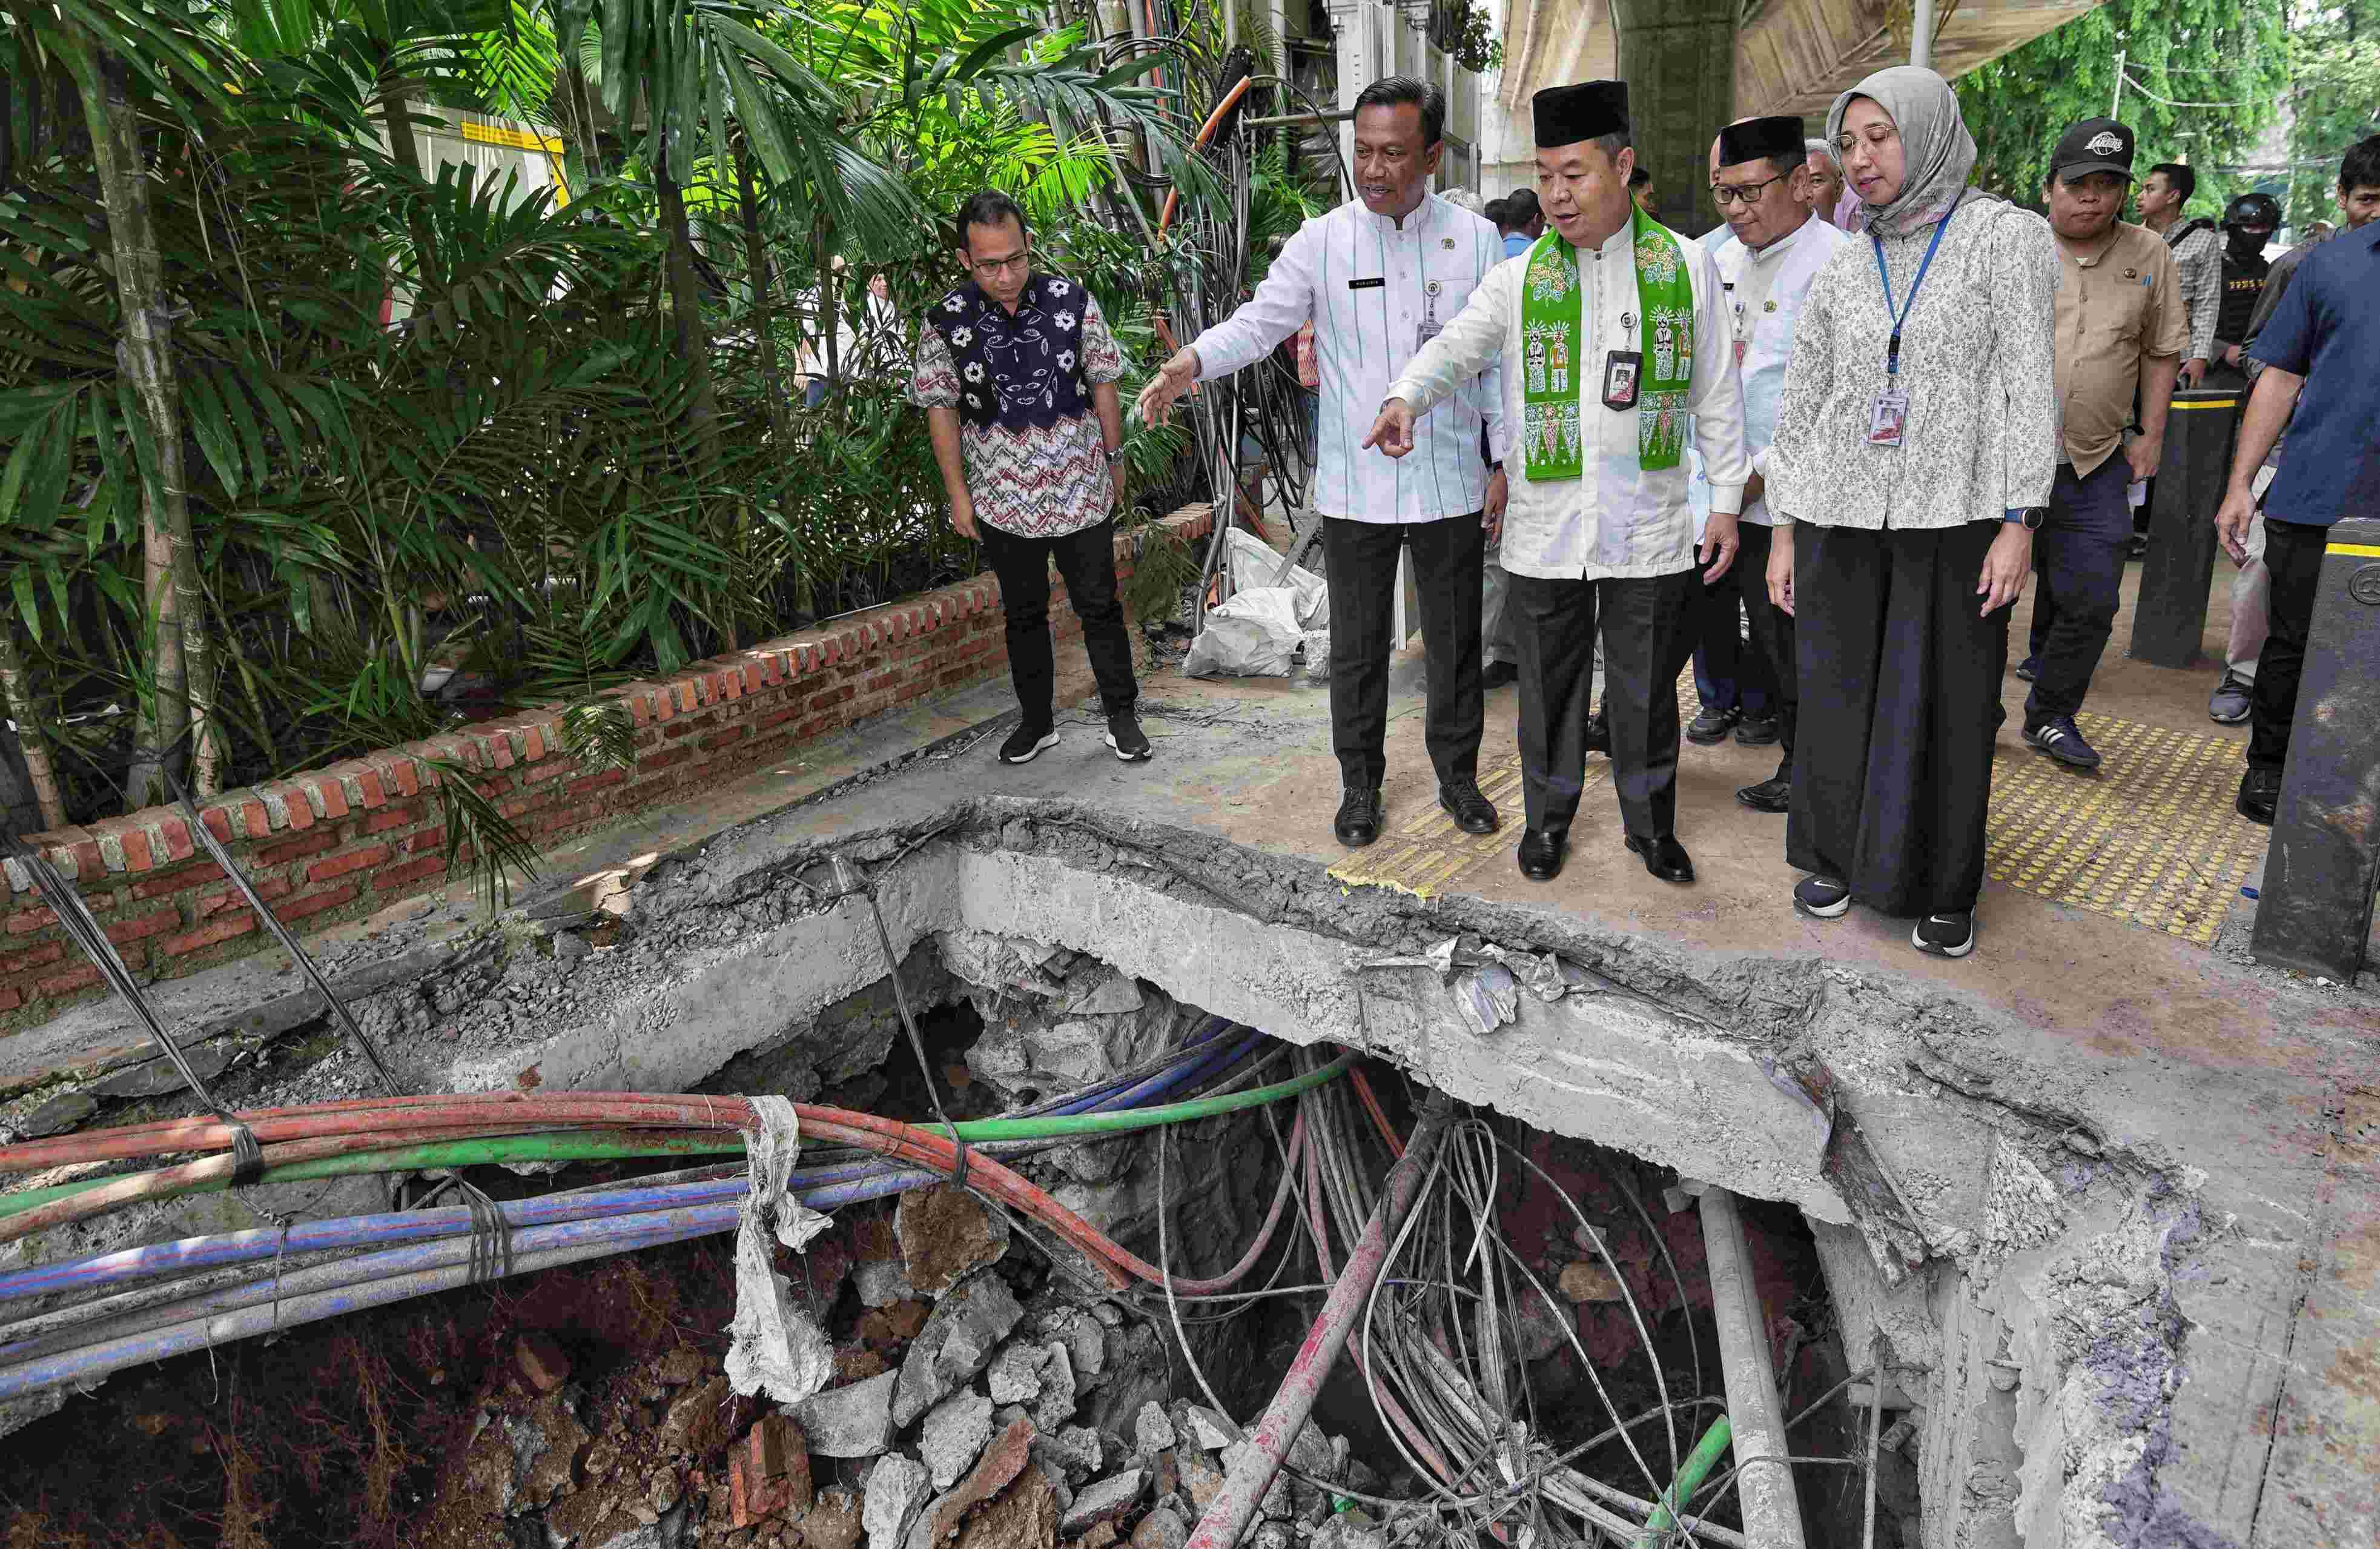
[[[90,40],[76,38],[76,76],[90,150],[107,200],[107,236],[124,305],[117,357],[131,378],[152,450],[140,481],[143,571],[150,623],[155,700],[138,730],[126,771],[129,809],[167,799],[167,754],[190,728],[193,685],[207,683],[207,614],[190,543],[190,490],[183,483],[181,383],[174,376],[174,312],[164,262],[150,219],[148,169],[140,162],[140,119],[131,102],[131,71]],[[205,714],[205,704],[198,707]],[[200,766],[212,764],[214,740],[200,726]]]

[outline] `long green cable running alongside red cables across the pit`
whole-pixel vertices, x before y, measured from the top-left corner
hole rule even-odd
[[[1354,1054],[1340,1054],[1328,1066],[1319,1071],[1307,1071],[1292,1080],[1283,1080],[1271,1087],[1250,1087],[1247,1092],[1226,1092],[1221,1097],[1195,1097],[1190,1102],[1169,1102],[1154,1109],[1126,1109],[1121,1114],[1047,1114],[1040,1118],[973,1118],[969,1123],[950,1125],[964,1142],[988,1142],[988,1140],[1054,1140],[1061,1135],[1123,1135],[1130,1130],[1147,1130],[1166,1123],[1190,1123],[1195,1118],[1214,1118],[1216,1114],[1235,1114],[1240,1109],[1264,1106],[1269,1102],[1280,1102],[1285,1097],[1297,1097],[1309,1087],[1319,1087],[1333,1080],[1347,1066],[1354,1064]],[[919,1125],[928,1130],[940,1130],[942,1125]],[[307,1178],[340,1178],[347,1173],[409,1173],[416,1168],[457,1168],[457,1166],[486,1166],[497,1161],[609,1161],[624,1156],[735,1156],[743,1147],[743,1133],[721,1130],[716,1137],[674,1137],[674,1140],[650,1140],[633,1137],[621,1140],[619,1130],[581,1130],[581,1133],[552,1133],[552,1135],[490,1135],[486,1140],[431,1140],[412,1147],[395,1147],[386,1152],[355,1152],[352,1156],[317,1156],[314,1161],[286,1161],[281,1166],[264,1168],[257,1183],[305,1183]],[[102,1187],[129,1178],[131,1173],[109,1173],[105,1178],[79,1178],[74,1183],[60,1183],[43,1190],[24,1190],[19,1194],[0,1194],[0,1218],[14,1216],[17,1211],[29,1211],[33,1206],[48,1204],[52,1199],[67,1199],[86,1190]],[[228,1180],[195,1183],[171,1194],[155,1194],[155,1199],[174,1199],[178,1194],[214,1194],[228,1187]]]

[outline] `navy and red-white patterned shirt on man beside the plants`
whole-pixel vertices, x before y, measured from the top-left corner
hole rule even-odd
[[[1100,302],[1076,281],[1038,274],[1014,316],[973,281],[935,307],[947,316],[916,331],[909,402],[959,409],[976,519],[1016,538],[1064,538],[1107,521],[1116,483],[1100,416],[1088,390],[1069,395],[1050,385],[1071,378],[1090,388],[1123,376],[1123,352]],[[1050,412],[1059,397],[1066,412]]]

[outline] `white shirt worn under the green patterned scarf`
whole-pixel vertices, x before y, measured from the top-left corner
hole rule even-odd
[[[1714,509],[1733,514],[1745,497],[1752,464],[1745,457],[1745,400],[1735,383],[1735,335],[1718,269],[1711,255],[1678,233],[1685,274],[1695,293],[1692,376],[1685,412],[1711,469]],[[1621,226],[1595,252],[1578,255],[1585,286],[1576,362],[1578,416],[1585,433],[1585,474],[1533,483],[1526,457],[1514,447],[1504,462],[1511,504],[1504,509],[1504,569],[1542,581],[1604,581],[1676,576],[1695,566],[1695,512],[1687,504],[1685,457],[1673,469],[1645,469],[1637,459],[1637,409],[1604,407],[1604,362],[1611,350],[1647,350],[1637,316],[1635,240]],[[1471,295],[1447,331],[1407,366],[1390,388],[1414,407],[1414,440],[1421,443],[1433,407],[1452,397],[1497,359],[1523,359],[1521,290],[1528,259],[1509,259]],[[1645,362],[1642,376],[1659,364]],[[1502,381],[1507,424],[1521,424],[1523,374]],[[1421,419],[1428,414],[1428,419]]]

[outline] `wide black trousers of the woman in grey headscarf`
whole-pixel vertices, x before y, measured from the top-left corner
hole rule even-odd
[[[1956,914],[1983,892],[2009,609],[1978,616],[1975,581],[1999,526],[1795,523],[1811,692],[1785,859],[1883,914]]]

